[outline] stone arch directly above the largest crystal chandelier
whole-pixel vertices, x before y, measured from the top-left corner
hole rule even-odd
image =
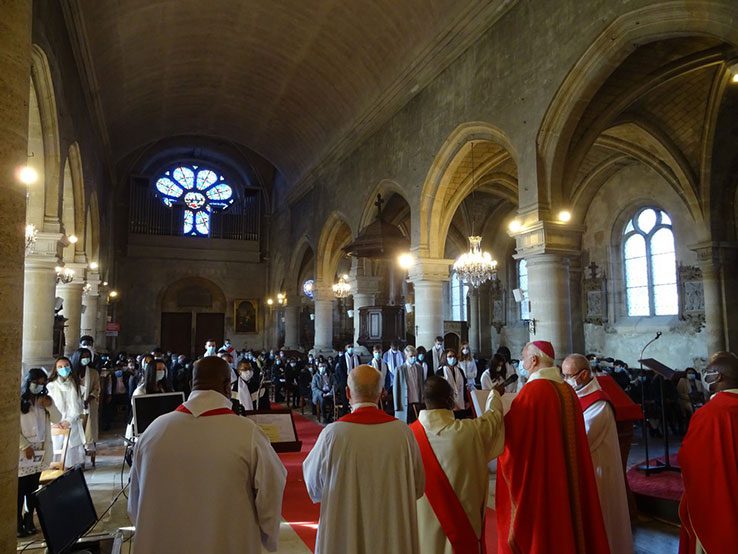
[[[476,168],[471,168],[471,145],[481,147]],[[517,203],[517,176],[499,170],[511,162],[517,173],[517,154],[497,127],[483,122],[457,127],[436,156],[426,177],[413,221],[413,247],[420,255],[442,257],[451,220],[457,208],[475,188],[496,183],[507,189]],[[495,175],[495,177],[490,177]]]

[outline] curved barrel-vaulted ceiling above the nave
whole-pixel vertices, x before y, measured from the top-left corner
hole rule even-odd
[[[62,0],[113,161],[169,136],[289,182],[350,151],[515,0]]]

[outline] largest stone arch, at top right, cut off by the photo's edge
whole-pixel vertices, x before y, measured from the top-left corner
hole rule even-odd
[[[572,136],[597,91],[612,72],[640,46],[684,36],[710,36],[738,45],[738,8],[680,1],[663,2],[623,14],[579,58],[549,105],[538,131],[538,198],[562,202],[563,178]]]

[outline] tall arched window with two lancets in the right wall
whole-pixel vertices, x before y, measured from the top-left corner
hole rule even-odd
[[[671,218],[656,208],[636,212],[623,236],[629,316],[676,315],[676,249]]]

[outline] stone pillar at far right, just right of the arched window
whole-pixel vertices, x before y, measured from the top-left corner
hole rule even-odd
[[[720,283],[719,249],[712,243],[693,246],[697,262],[702,270],[702,289],[705,301],[705,347],[709,358],[715,352],[725,350],[725,314]]]

